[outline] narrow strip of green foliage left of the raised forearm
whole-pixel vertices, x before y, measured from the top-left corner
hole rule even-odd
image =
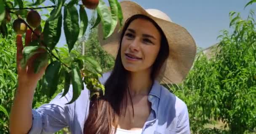
[[[8,24],[8,32],[12,29]],[[6,39],[0,35],[0,105],[10,113],[15,89],[17,86],[16,79],[16,45],[15,36],[9,34]],[[0,133],[8,133],[8,115],[6,112],[0,112]],[[3,122],[3,123],[2,123]]]

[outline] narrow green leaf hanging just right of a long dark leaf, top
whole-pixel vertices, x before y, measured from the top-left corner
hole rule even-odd
[[[85,34],[85,31],[86,31],[87,26],[88,26],[88,17],[87,17],[87,13],[86,13],[85,8],[83,7],[83,5],[80,5],[79,15],[80,15],[80,21],[81,21],[80,35],[79,36],[81,37]]]

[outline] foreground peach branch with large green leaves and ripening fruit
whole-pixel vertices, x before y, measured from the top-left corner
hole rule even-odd
[[[103,0],[50,1],[51,6],[43,7],[41,5],[45,0],[36,0],[35,3],[24,0],[0,0],[0,32],[4,38],[7,37],[6,24],[14,20],[13,30],[17,38],[24,36],[24,33],[32,33],[32,36],[25,36],[21,67],[26,67],[27,61],[35,55],[37,55],[33,62],[35,73],[48,64],[38,87],[44,90],[49,98],[56,92],[60,80],[64,80],[63,95],[69,90],[70,83],[73,86],[73,97],[67,104],[74,102],[80,96],[81,90],[84,89],[83,83],[92,93],[99,89],[104,93],[104,86],[99,82],[99,77],[102,75],[99,64],[92,58],[83,56],[72,49],[78,38],[84,35],[88,26],[85,8],[97,11],[98,21],[94,26],[102,23],[104,39],[106,39],[113,33],[117,22],[123,20],[120,3],[117,0],[108,0],[109,8]],[[52,10],[45,23],[41,23],[41,15],[37,10],[44,8]],[[63,15],[62,8],[64,8]],[[15,17],[11,18],[10,14],[14,14]],[[61,36],[62,25],[67,40],[67,52],[56,47]]]

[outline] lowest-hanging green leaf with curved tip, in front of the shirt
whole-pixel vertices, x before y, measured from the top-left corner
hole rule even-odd
[[[77,100],[83,88],[83,81],[82,81],[80,70],[77,63],[71,64],[71,82],[72,82],[72,88],[73,88],[73,96],[71,101],[69,101],[66,104],[71,104],[75,100]]]

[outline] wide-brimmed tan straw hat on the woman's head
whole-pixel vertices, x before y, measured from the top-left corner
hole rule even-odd
[[[189,32],[173,23],[165,13],[156,9],[145,10],[131,1],[120,2],[123,11],[123,23],[133,15],[142,14],[152,18],[163,30],[169,44],[169,57],[162,67],[157,80],[160,83],[181,83],[189,72],[195,59],[196,44]],[[103,39],[104,33],[99,25],[99,41],[105,51],[116,57],[121,31],[119,24],[114,33]]]

